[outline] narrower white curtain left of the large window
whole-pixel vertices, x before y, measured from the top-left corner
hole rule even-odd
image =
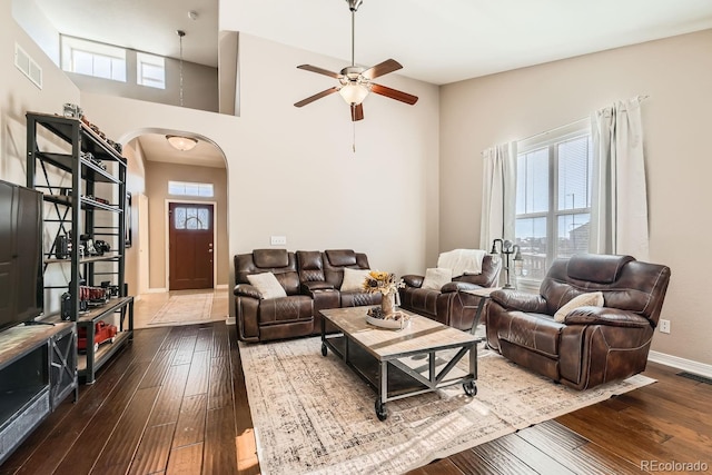
[[[516,212],[516,142],[482,152],[482,222],[479,247],[492,248],[495,238],[514,241]]]

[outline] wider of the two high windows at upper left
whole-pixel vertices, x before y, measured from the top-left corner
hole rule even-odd
[[[62,69],[126,82],[126,50],[79,38],[62,37]]]

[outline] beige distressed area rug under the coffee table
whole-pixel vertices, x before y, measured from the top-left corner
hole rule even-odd
[[[319,337],[240,343],[264,474],[403,473],[654,382],[576,392],[481,352],[475,397],[457,385],[389,402],[379,422],[375,392],[320,348]]]

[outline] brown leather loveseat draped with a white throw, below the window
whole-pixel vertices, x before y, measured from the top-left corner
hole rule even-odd
[[[482,274],[458,276],[439,290],[425,289],[424,276],[403,276],[405,287],[399,289],[400,307],[444,325],[469,331],[475,319],[479,297],[463,293],[483,287],[494,287],[500,278],[502,259],[485,255]]]

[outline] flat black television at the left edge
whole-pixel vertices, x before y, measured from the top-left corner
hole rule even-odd
[[[42,194],[0,180],[0,330],[43,311]]]

